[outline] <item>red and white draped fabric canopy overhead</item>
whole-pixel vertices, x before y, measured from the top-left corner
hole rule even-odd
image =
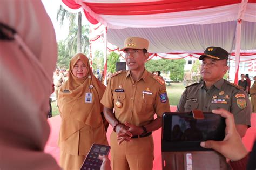
[[[256,59],[256,0],[62,2],[82,9],[95,27],[104,25],[107,41],[119,48],[131,36],[148,39],[149,52],[158,54],[202,53],[208,46],[219,46],[235,52],[231,58],[236,60],[237,74],[240,60]],[[240,52],[251,54],[240,57]]]

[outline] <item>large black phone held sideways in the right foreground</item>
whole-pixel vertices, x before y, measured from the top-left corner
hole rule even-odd
[[[162,151],[204,151],[201,141],[225,138],[225,118],[204,112],[204,119],[194,119],[192,113],[163,114]]]

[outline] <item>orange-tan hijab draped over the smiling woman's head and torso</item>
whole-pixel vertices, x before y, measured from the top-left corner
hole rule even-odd
[[[75,64],[81,60],[88,72],[84,78],[74,76],[72,70]],[[58,106],[62,116],[60,128],[60,142],[86,125],[92,128],[102,123],[103,106],[100,99],[105,91],[105,86],[93,75],[90,69],[89,59],[82,53],[73,56],[69,65],[69,79],[60,87]],[[92,94],[92,103],[85,103],[85,94]]]

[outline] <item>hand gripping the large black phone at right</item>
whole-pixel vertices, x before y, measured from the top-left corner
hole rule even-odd
[[[201,147],[214,149],[232,161],[238,161],[244,158],[248,154],[248,151],[244,144],[242,144],[242,139],[235,128],[233,114],[224,109],[212,110],[212,112],[226,118],[226,136],[223,141],[208,140],[201,142]]]

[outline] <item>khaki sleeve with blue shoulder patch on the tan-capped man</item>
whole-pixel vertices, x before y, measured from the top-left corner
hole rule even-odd
[[[154,105],[157,116],[162,117],[164,112],[170,112],[170,104],[167,96],[166,86],[165,84],[160,86],[156,97],[156,103]]]

